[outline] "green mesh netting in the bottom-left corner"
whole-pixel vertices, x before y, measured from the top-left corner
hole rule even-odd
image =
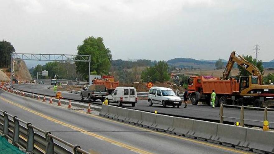
[[[25,154],[17,147],[10,144],[6,138],[0,136],[0,154]]]

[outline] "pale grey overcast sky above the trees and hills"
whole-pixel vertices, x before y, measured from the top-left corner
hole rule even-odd
[[[274,59],[274,1],[0,0],[0,40],[17,53],[76,54],[103,37],[113,59]]]

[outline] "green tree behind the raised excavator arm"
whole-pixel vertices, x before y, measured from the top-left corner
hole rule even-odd
[[[264,68],[262,66],[262,60],[257,61],[257,59],[252,58],[252,56],[243,56],[243,58],[245,58],[245,60],[247,60],[249,63],[252,63],[254,66],[256,66],[260,72],[262,73],[262,75],[264,74]],[[246,69],[242,68],[240,65],[238,65],[239,68],[239,76],[249,76],[252,75],[251,73],[249,73]]]

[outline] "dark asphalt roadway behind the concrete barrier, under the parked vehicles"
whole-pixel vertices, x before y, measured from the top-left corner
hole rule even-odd
[[[55,93],[52,90],[48,89],[49,87],[51,87],[50,85],[15,85],[14,87],[24,91],[45,94],[48,96],[55,96]],[[80,96],[77,94],[64,92],[62,93],[62,96],[66,99],[81,101]],[[98,100],[97,102],[93,102],[93,103],[100,104],[101,102]],[[115,104],[111,104],[111,105],[115,105]],[[135,109],[135,110],[148,111],[148,112],[154,112],[155,110],[157,110],[158,114],[166,114],[166,115],[173,115],[173,116],[179,116],[179,117],[185,117],[185,118],[208,120],[213,122],[218,122],[220,120],[220,117],[219,117],[220,108],[219,107],[211,108],[210,106],[207,106],[207,105],[188,105],[187,108],[183,108],[184,104],[182,104],[180,108],[172,108],[168,106],[164,108],[162,105],[157,105],[157,104],[154,104],[153,106],[149,106],[147,100],[138,100],[138,103],[135,105],[135,107],[131,107],[131,105],[123,105],[122,107]],[[224,116],[240,118],[240,109],[224,107]],[[268,111],[267,116],[268,116],[269,122],[274,122],[274,110]],[[263,121],[263,118],[264,118],[263,110],[244,109],[244,119]],[[229,124],[236,123],[237,121],[240,122],[239,119],[224,118],[224,122]],[[248,121],[248,120],[245,120],[244,124],[248,126],[257,126],[257,127],[263,126],[262,122],[254,122],[254,121]],[[274,128],[274,124],[270,123],[269,127]]]

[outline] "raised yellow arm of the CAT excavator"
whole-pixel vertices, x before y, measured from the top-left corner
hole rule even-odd
[[[258,83],[259,83],[259,85],[261,85],[262,84],[262,73],[260,72],[260,70],[256,66],[254,66],[252,63],[249,63],[247,60],[245,60],[242,56],[240,56],[239,54],[237,54],[237,56],[236,56],[236,54],[237,53],[235,51],[233,51],[230,54],[228,63],[226,64],[226,67],[223,72],[223,79],[224,80],[228,79],[229,73],[230,73],[234,63],[236,62],[242,68],[244,68],[248,72],[250,72],[253,76],[257,76]]]

